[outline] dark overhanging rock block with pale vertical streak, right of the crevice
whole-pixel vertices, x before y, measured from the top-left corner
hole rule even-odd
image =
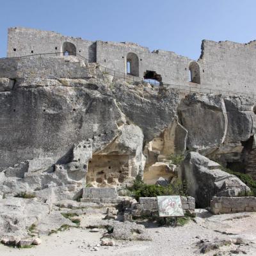
[[[188,130],[188,150],[195,150],[239,172],[253,173],[255,100],[213,94],[186,95],[178,105]]]

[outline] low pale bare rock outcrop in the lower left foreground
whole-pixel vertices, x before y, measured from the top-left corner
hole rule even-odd
[[[51,205],[36,198],[6,198],[0,200],[0,238],[28,237],[29,233],[47,235],[62,225],[74,225],[60,211],[51,211]],[[31,228],[33,227],[33,228]],[[32,230],[33,229],[33,230]]]

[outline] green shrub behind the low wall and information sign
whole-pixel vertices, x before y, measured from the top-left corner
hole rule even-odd
[[[148,185],[137,177],[131,188],[132,196],[138,200],[140,197],[156,197],[164,195],[186,196],[186,189],[180,180],[168,186]]]

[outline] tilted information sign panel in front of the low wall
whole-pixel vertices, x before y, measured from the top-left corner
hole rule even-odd
[[[180,196],[157,196],[159,217],[182,217]]]

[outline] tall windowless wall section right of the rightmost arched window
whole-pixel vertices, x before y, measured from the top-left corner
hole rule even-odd
[[[202,42],[200,65],[204,87],[255,93],[256,42]]]

